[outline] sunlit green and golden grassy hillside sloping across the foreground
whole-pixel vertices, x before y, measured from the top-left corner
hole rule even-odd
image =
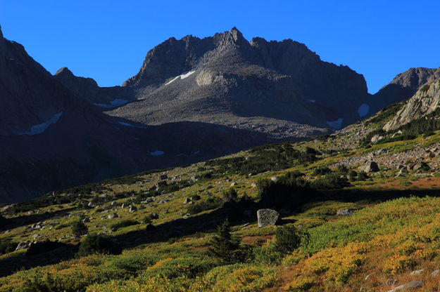
[[[308,142],[3,206],[0,291],[438,291],[440,133],[362,139],[395,110]],[[379,171],[360,170],[370,161]],[[260,208],[279,211],[277,227],[258,227]],[[232,260],[210,252],[226,218],[240,243]],[[86,255],[90,234],[116,254]],[[40,244],[14,251],[27,240]]]

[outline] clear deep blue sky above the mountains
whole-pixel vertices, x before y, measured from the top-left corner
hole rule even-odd
[[[122,84],[170,36],[237,26],[246,39],[294,39],[363,74],[370,93],[410,67],[440,67],[440,1],[0,0],[6,38],[54,73]]]

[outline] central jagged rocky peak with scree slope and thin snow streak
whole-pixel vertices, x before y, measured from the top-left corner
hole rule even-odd
[[[138,100],[109,112],[117,117],[142,124],[203,121],[268,135],[274,132],[263,128],[277,123],[281,138],[297,138],[306,125],[312,135],[341,128],[369,108],[362,75],[323,62],[290,39],[247,41],[235,27],[204,39],[164,41],[122,86]]]

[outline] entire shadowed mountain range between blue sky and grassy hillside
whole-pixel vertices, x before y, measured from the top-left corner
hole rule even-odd
[[[361,74],[303,44],[233,28],[168,39],[101,88],[66,67],[52,76],[0,29],[0,201],[332,133],[438,75],[410,69],[369,95]]]

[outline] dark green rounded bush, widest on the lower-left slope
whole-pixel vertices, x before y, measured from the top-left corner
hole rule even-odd
[[[116,243],[113,237],[104,234],[88,234],[80,244],[77,256],[85,256],[93,253],[114,254],[122,253],[122,247]]]

